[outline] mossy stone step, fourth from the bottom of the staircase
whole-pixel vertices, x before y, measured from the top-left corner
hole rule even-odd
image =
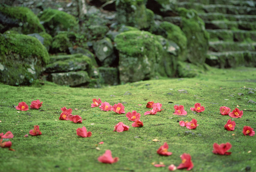
[[[204,21],[205,29],[230,29],[230,30],[256,30],[256,22],[248,21],[225,21],[225,20],[213,20]]]

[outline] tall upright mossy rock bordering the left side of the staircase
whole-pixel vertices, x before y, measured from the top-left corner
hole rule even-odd
[[[182,16],[181,29],[187,38],[187,59],[194,64],[203,64],[208,51],[209,35],[203,20],[195,10],[178,8]]]

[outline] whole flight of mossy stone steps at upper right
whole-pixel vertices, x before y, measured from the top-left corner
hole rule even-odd
[[[256,67],[256,1],[180,0],[195,9],[209,33],[206,63],[220,68]]]

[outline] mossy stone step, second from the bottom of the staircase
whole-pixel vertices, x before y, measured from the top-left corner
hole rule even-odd
[[[215,41],[209,42],[209,51],[211,52],[229,52],[229,51],[256,51],[256,42],[225,42]]]

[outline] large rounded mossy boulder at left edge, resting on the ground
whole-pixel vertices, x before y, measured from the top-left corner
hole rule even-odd
[[[46,47],[34,37],[0,34],[0,81],[8,85],[31,85],[49,62]]]

